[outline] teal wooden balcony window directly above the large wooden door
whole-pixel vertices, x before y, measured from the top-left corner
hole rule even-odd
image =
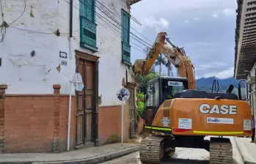
[[[80,46],[96,52],[95,0],[80,0]]]

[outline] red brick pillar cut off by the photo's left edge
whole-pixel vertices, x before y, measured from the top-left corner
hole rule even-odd
[[[0,154],[4,153],[4,94],[7,85],[0,85]]]

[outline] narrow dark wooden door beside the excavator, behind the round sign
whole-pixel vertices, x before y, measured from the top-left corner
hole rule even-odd
[[[134,89],[128,88],[130,92],[129,108],[130,108],[130,137],[136,137],[136,108],[135,108],[135,97]]]

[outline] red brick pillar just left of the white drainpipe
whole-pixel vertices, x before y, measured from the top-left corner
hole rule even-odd
[[[59,152],[59,84],[54,84],[54,141],[52,152]]]

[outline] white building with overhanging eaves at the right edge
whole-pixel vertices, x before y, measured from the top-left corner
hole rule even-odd
[[[246,99],[256,115],[256,1],[238,0],[237,12],[234,76],[246,80]]]

